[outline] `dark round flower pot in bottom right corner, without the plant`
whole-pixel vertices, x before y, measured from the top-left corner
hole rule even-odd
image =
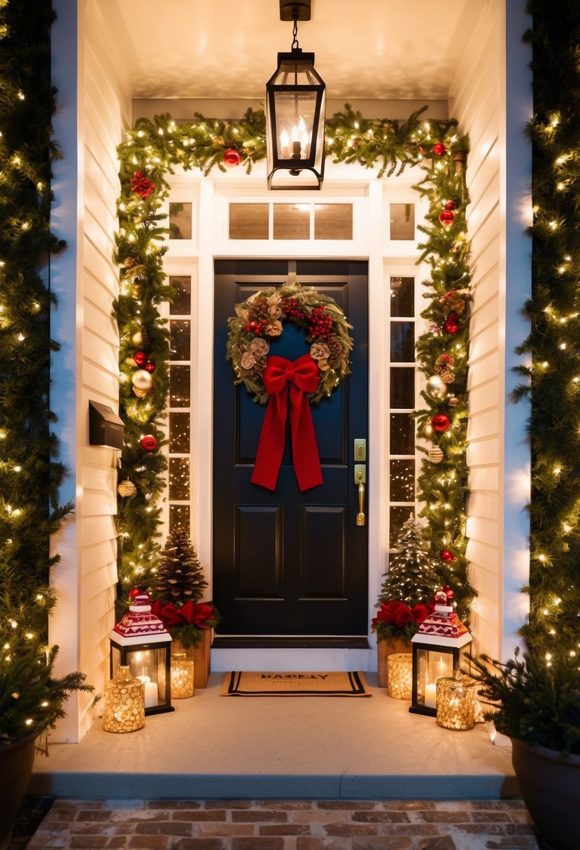
[[[521,796],[546,850],[577,850],[580,835],[580,756],[560,758],[512,738],[512,764]]]

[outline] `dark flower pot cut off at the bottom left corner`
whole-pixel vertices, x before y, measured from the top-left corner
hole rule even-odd
[[[0,850],[9,846],[14,818],[26,794],[34,762],[36,735],[0,745]]]

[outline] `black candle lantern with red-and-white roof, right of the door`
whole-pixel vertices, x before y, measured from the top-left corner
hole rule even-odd
[[[451,677],[458,669],[464,647],[471,635],[459,621],[450,603],[453,592],[447,588],[435,593],[435,611],[411,638],[412,694],[409,711],[437,716],[437,680]]]

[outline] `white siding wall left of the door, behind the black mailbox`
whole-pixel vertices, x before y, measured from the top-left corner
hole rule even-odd
[[[63,272],[59,297],[65,313],[54,331],[64,343],[61,360],[65,360],[59,363],[57,358],[54,364],[54,400],[60,407],[59,435],[75,484],[70,494],[75,513],[54,541],[61,564],[54,570],[59,604],[50,637],[63,648],[60,669],[82,670],[102,691],[108,678],[107,637],[113,625],[117,582],[117,452],[88,445],[88,402],[118,409],[118,333],[111,315],[118,288],[113,262],[119,194],[116,148],[130,124],[131,99],[122,58],[97,3],[60,0],[56,6],[59,19],[54,37],[67,43],[69,55],[78,26],[78,52],[69,59],[70,77],[64,62],[62,74],[55,75],[59,105],[64,99],[71,116],[74,113],[71,126],[63,127],[64,139],[58,117],[56,127],[65,155],[60,177],[68,179],[69,185],[77,184],[77,195],[70,198],[76,207],[70,220],[65,215],[59,218],[58,197],[56,205],[57,232],[66,239],[68,249],[66,260],[54,263],[54,271],[59,280],[59,262],[66,262],[68,277]],[[73,7],[78,20],[72,20]],[[57,740],[79,740],[88,731],[93,719],[91,700],[87,696],[69,700]]]

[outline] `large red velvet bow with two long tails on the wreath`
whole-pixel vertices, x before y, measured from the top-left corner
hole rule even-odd
[[[321,463],[308,400],[308,394],[316,392],[319,382],[320,371],[310,354],[303,354],[294,362],[277,357],[276,354],[268,358],[264,388],[270,399],[253,467],[253,484],[276,490],[286,445],[288,396],[294,472],[299,488],[310,490],[310,487],[322,484]]]

